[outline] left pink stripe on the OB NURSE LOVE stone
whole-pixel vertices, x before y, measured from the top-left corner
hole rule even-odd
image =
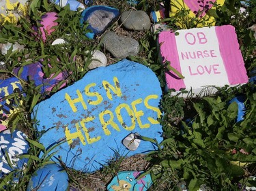
[[[160,55],[162,56],[162,61],[168,60],[171,67],[174,67],[177,71],[181,73],[179,54],[177,53],[177,45],[175,34],[170,31],[163,31],[158,36],[158,43],[160,45]],[[177,77],[175,73],[169,71],[165,73],[167,88],[174,88],[175,90],[180,90],[180,88],[186,88],[184,80]]]

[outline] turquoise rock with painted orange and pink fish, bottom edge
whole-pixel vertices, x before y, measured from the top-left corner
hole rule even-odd
[[[119,172],[107,186],[109,191],[119,190],[139,190],[146,191],[152,186],[152,179],[150,174],[145,175],[141,179],[137,179],[143,171],[123,171]]]

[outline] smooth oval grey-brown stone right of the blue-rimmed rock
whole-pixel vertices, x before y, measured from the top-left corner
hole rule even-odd
[[[122,13],[120,22],[129,30],[147,31],[150,29],[150,17],[143,11],[125,11]]]

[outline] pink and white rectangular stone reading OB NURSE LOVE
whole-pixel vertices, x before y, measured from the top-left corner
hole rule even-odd
[[[167,88],[192,88],[195,94],[203,86],[229,86],[248,82],[235,28],[231,25],[177,31],[163,31],[158,42],[162,60],[185,77],[165,73]]]

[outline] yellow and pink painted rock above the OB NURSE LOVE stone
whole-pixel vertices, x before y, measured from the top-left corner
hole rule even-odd
[[[225,0],[212,0],[212,3],[217,3],[218,5],[222,6]],[[212,16],[208,16],[206,13],[208,10],[212,9],[215,10],[216,8],[210,1],[205,0],[175,0],[171,1],[171,12],[170,17],[175,16],[180,10],[185,9],[189,10],[188,16],[190,18],[197,17],[199,20],[201,18],[205,18],[205,23],[201,22],[197,25],[197,27],[206,27],[208,24],[215,24],[215,19]],[[179,21],[176,23],[182,29],[186,29],[186,22],[188,20],[184,20],[184,22]]]

